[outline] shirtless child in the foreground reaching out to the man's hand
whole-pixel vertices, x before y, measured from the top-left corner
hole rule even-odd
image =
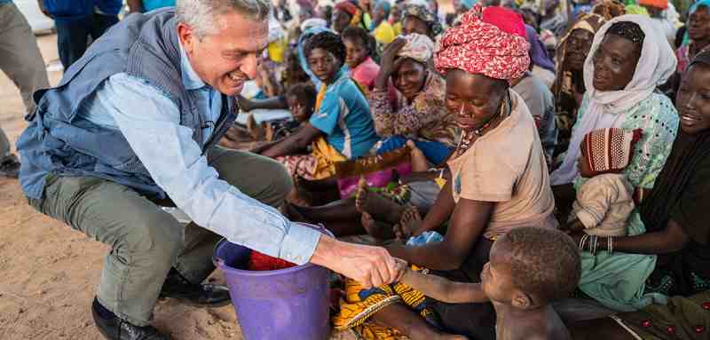
[[[399,265],[406,267],[403,261]],[[572,338],[550,303],[577,287],[580,250],[556,229],[520,227],[498,238],[481,283],[448,281],[411,269],[400,273],[400,282],[442,302],[493,303],[498,340]]]

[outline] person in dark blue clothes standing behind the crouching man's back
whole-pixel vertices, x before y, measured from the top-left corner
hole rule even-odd
[[[122,0],[37,0],[44,15],[54,20],[61,65],[67,70],[91,41],[118,22]]]

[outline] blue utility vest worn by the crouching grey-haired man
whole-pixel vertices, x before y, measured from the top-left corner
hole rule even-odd
[[[180,110],[180,125],[193,130],[193,139],[202,146],[202,117],[207,113],[201,111],[209,107],[198,107],[196,91],[183,86],[176,26],[172,8],[131,14],[92,43],[57,87],[35,92],[36,111],[28,115],[29,126],[17,142],[20,185],[29,198],[42,197],[50,173],[105,178],[158,199],[166,197],[120,130],[76,113],[107,78],[126,73],[168,94]],[[224,95],[222,99],[222,114],[202,154],[217,144],[236,118],[236,101]]]

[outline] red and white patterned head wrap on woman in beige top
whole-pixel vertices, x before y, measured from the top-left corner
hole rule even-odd
[[[476,4],[463,14],[459,26],[446,30],[439,41],[435,65],[442,74],[460,68],[510,83],[528,70],[529,49],[520,14],[502,7],[483,10]]]

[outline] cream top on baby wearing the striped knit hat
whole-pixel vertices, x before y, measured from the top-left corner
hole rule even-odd
[[[623,174],[589,178],[577,190],[570,220],[579,218],[589,235],[626,236],[627,219],[635,206],[633,195],[634,187]]]

